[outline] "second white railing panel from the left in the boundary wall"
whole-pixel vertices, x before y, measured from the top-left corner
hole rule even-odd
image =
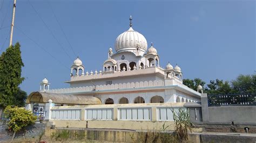
[[[113,108],[85,109],[85,120],[113,120]]]

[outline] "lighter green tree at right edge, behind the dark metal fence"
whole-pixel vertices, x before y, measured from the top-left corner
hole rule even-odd
[[[235,93],[256,93],[256,74],[241,74],[231,84]]]

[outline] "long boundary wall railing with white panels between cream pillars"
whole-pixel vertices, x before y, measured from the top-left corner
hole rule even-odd
[[[57,106],[50,110],[52,120],[173,121],[173,113],[182,103]],[[154,110],[154,112],[152,112]],[[83,112],[82,112],[83,111]],[[48,111],[46,111],[48,112]],[[116,113],[114,113],[116,112]]]

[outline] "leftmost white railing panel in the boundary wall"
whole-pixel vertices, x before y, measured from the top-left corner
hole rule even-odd
[[[80,120],[80,109],[51,110],[51,119],[53,120]]]

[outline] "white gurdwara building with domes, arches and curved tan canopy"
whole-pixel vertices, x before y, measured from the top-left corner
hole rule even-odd
[[[152,43],[148,47],[146,38],[133,30],[131,21],[130,17],[130,28],[116,39],[116,52],[111,47],[107,52],[102,70],[88,72],[77,57],[71,66],[70,81],[66,81],[70,88],[50,90],[48,80],[44,79],[41,91],[32,92],[29,98],[44,94],[46,99],[39,103],[51,99],[56,105],[200,101],[199,92],[183,85],[183,74],[178,65],[173,67],[167,63],[165,69],[160,67],[157,49]]]

